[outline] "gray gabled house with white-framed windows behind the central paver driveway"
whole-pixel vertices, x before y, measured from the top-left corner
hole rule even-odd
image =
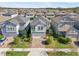
[[[35,17],[30,24],[32,36],[45,36],[46,30],[50,27],[50,21],[43,16]]]

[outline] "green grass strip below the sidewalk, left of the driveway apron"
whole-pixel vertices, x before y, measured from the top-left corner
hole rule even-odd
[[[27,56],[29,52],[7,51],[6,56]]]

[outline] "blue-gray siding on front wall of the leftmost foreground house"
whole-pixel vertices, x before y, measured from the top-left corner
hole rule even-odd
[[[9,31],[8,29],[7,29],[7,27],[6,26],[11,26],[12,28],[14,27],[14,31]],[[7,31],[7,30],[8,31]],[[12,23],[10,23],[10,22],[8,22],[8,21],[6,21],[5,23],[3,23],[3,26],[2,26],[2,28],[1,28],[1,31],[2,31],[2,34],[5,36],[5,37],[11,37],[11,36],[16,36],[17,35],[17,28],[16,28],[16,25],[14,25],[14,24],[12,24]]]

